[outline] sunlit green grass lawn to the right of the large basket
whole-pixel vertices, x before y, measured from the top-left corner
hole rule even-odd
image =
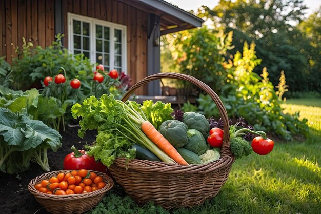
[[[309,137],[305,141],[275,142],[269,155],[252,154],[236,160],[215,198],[193,208],[168,212],[147,205],[133,213],[321,213],[321,167],[317,162],[321,160],[319,101],[289,100],[284,104],[286,112],[300,111],[300,117],[308,119]],[[118,204],[122,203],[131,202],[123,200]],[[132,213],[120,210],[119,213]]]

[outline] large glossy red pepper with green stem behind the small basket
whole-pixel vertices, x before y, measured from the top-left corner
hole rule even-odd
[[[77,150],[74,146],[71,147],[74,151],[67,154],[64,159],[64,169],[96,169],[95,158],[86,154],[84,150]]]

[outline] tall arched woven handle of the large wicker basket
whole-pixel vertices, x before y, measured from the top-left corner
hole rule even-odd
[[[202,81],[196,79],[193,76],[187,75],[187,74],[182,74],[182,73],[156,73],[150,76],[145,77],[143,80],[137,82],[134,84],[132,87],[128,89],[128,91],[124,94],[122,101],[126,102],[130,95],[139,87],[142,85],[145,85],[146,83],[153,81],[153,80],[158,80],[162,78],[168,78],[168,79],[177,79],[177,80],[185,80],[188,81],[195,86],[199,87],[200,89],[204,90],[214,101],[216,104],[218,111],[220,113],[220,116],[223,121],[223,130],[224,130],[224,137],[223,137],[223,144],[220,150],[221,155],[225,155],[230,153],[230,132],[229,132],[229,119],[228,119],[228,114],[226,111],[226,108],[224,107],[222,101],[219,99],[218,95],[211,89],[208,85],[203,83]]]

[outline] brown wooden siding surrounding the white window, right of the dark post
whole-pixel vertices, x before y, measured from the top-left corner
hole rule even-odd
[[[64,45],[68,47],[67,13],[84,15],[127,26],[127,73],[133,83],[147,76],[148,13],[116,0],[63,1]],[[135,91],[147,94],[147,85]]]

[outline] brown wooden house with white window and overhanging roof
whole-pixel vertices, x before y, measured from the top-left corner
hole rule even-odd
[[[9,63],[22,37],[45,47],[61,33],[70,52],[126,71],[134,83],[160,71],[160,35],[203,23],[164,0],[1,0],[0,18],[0,56]],[[159,83],[137,93],[158,95]]]

